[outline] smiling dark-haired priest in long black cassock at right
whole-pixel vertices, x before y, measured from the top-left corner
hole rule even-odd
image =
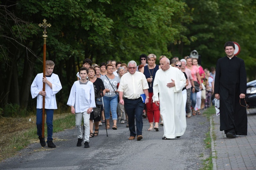
[[[244,61],[234,55],[234,43],[228,41],[224,49],[227,56],[219,58],[216,64],[214,94],[220,100],[220,130],[234,138],[247,135],[246,108],[240,105],[240,99],[245,105],[246,72]]]

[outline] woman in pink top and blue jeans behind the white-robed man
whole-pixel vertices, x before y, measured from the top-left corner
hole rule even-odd
[[[197,81],[202,82],[200,74],[199,74],[199,68],[197,68],[197,66],[193,66],[192,65],[192,58],[191,56],[186,58],[187,61],[187,66],[186,68],[188,68],[191,71],[191,75],[193,78],[193,81]],[[199,83],[199,88],[202,89],[202,83]],[[192,89],[194,89],[195,87],[192,87]],[[197,92],[195,92],[194,90],[191,91],[191,103],[192,103],[192,115],[195,116],[197,114],[197,112],[195,111],[195,106],[196,106],[196,102],[197,102]]]

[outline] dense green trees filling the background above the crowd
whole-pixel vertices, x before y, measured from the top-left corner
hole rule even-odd
[[[54,73],[63,85],[57,96],[61,103],[66,103],[85,58],[96,64],[113,59],[140,64],[142,53],[183,58],[197,50],[202,66],[210,68],[225,55],[223,45],[230,40],[240,44],[238,56],[245,61],[248,78],[255,79],[250,70],[256,69],[252,50],[256,48],[256,2],[231,4],[224,0],[8,1],[3,5],[12,6],[0,5],[0,89],[4,89],[0,100],[19,103],[8,96],[10,82],[17,79],[14,85],[22,91],[33,79],[23,82],[27,67],[33,68],[33,76],[42,72],[43,29],[38,24],[44,18],[52,24],[46,29],[46,59],[56,63]],[[18,72],[16,78],[13,72]],[[29,96],[28,105],[34,103]]]

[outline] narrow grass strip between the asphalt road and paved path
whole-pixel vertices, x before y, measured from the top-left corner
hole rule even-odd
[[[211,106],[209,107],[208,109],[206,109],[204,112],[203,112],[203,115],[207,117],[207,119],[210,121],[210,118],[212,115],[215,114],[215,107],[214,106]],[[214,122],[212,122],[214,123]],[[212,126],[214,126],[214,124],[212,124]],[[213,132],[212,133],[213,135],[213,140],[216,139],[216,135],[215,133]],[[205,149],[211,149],[211,142],[212,142],[212,138],[211,138],[211,134],[210,134],[210,131],[207,132],[205,134],[205,139],[204,139],[204,144],[205,144]],[[215,136],[215,139],[214,139],[214,136]],[[212,154],[210,153],[210,156],[206,159],[203,160],[203,170],[212,170],[213,169],[213,163],[212,163]]]

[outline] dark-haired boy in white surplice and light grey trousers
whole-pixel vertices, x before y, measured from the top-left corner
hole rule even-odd
[[[81,123],[84,118],[85,134],[84,134],[84,148],[89,148],[90,136],[90,113],[96,107],[94,96],[94,85],[92,82],[86,80],[88,69],[81,67],[79,69],[81,80],[74,82],[67,105],[71,106],[71,113],[75,114],[75,127],[77,132],[77,147],[82,146],[83,135],[81,131]]]

